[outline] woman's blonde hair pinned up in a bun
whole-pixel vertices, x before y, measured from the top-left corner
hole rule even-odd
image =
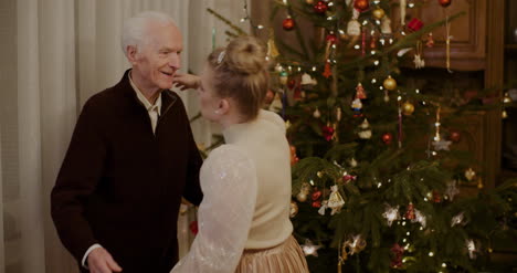
[[[236,38],[225,49],[213,51],[208,63],[218,95],[233,98],[247,120],[256,118],[270,84],[266,52],[258,40]]]

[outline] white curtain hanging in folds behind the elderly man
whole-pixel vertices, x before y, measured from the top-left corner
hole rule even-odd
[[[182,70],[199,73],[213,30],[215,44],[225,44],[226,27],[207,8],[236,23],[244,17],[242,0],[0,1],[0,273],[77,272],[55,234],[50,191],[82,105],[129,67],[122,23],[144,10],[170,14],[183,33]],[[196,115],[196,94],[181,97]],[[192,128],[210,145],[207,122]],[[191,220],[186,213],[178,223],[182,253]]]

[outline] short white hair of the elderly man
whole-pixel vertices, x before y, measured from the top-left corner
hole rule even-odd
[[[141,49],[148,39],[145,39],[149,23],[175,24],[175,20],[166,13],[159,11],[144,11],[124,22],[120,45],[127,56],[127,46],[133,45]]]

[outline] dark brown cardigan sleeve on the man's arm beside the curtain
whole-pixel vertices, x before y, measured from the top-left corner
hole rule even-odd
[[[95,190],[106,158],[98,128],[101,115],[89,99],[77,119],[63,165],[51,192],[51,213],[64,246],[81,262],[97,243],[84,217],[85,202]]]

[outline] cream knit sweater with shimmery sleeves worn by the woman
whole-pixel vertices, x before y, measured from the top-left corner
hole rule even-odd
[[[281,244],[289,220],[291,154],[282,118],[266,111],[223,130],[225,145],[204,161],[204,198],[190,252],[171,271],[234,272],[244,249]]]

